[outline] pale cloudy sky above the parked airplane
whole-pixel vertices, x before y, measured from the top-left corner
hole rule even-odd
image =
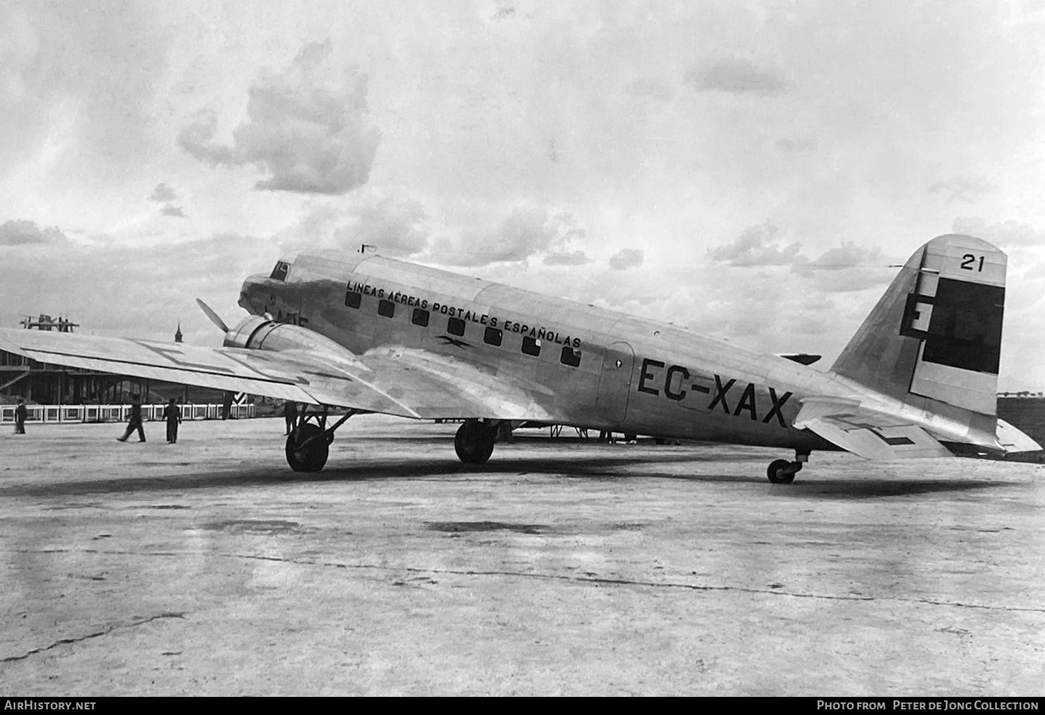
[[[1045,0],[6,0],[0,108],[4,326],[216,344],[366,243],[830,365],[956,231],[1045,389]]]

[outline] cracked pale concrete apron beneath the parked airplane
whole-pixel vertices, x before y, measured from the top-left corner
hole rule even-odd
[[[1041,692],[1042,465],[771,485],[790,455],[545,430],[465,468],[456,428],[356,417],[307,476],[282,419],[0,435],[0,691]]]

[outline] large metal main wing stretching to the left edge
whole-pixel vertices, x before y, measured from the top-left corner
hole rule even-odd
[[[424,350],[254,350],[0,329],[0,349],[42,363],[415,418],[549,419],[536,385]],[[549,402],[550,395],[549,395]]]

